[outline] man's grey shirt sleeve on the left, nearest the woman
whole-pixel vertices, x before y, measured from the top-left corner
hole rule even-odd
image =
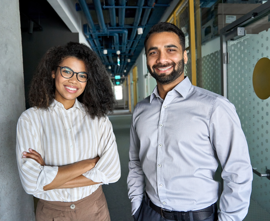
[[[135,111],[133,115],[134,113]],[[128,197],[131,200],[132,215],[134,215],[140,207],[145,191],[145,174],[139,158],[140,140],[136,128],[134,127],[133,115],[130,127],[129,173],[127,176]]]

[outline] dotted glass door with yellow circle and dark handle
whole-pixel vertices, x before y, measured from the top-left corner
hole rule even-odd
[[[223,95],[235,105],[254,170],[245,221],[270,220],[270,1],[220,34]],[[263,59],[262,59],[263,58]]]

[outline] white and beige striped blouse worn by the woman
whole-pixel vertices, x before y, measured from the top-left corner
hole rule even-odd
[[[29,152],[29,148],[41,154],[46,166],[21,158],[22,152]],[[43,186],[54,180],[58,166],[99,156],[96,166],[83,175],[103,184],[117,182],[120,178],[119,154],[110,121],[107,117],[92,119],[77,99],[68,110],[54,100],[48,109],[32,107],[22,113],[17,124],[16,153],[25,191],[47,201],[78,201],[100,186],[44,191]]]

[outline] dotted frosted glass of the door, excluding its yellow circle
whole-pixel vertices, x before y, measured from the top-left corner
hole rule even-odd
[[[228,42],[228,99],[235,105],[244,131],[252,166],[265,174],[270,169],[270,98],[259,99],[253,89],[252,76],[257,61],[270,56],[270,30]],[[252,199],[270,211],[270,180],[254,174]],[[252,209],[252,208],[251,208]],[[256,220],[270,220],[269,213]]]

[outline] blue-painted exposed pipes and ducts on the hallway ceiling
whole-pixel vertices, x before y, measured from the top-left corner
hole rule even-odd
[[[92,49],[112,76],[123,76],[141,53],[149,29],[159,22],[171,0],[78,2],[76,9],[85,15],[87,24],[83,30]],[[138,28],[143,29],[143,34],[137,33]]]

